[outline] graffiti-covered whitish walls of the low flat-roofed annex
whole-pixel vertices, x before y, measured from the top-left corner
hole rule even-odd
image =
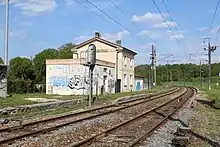
[[[52,93],[74,93],[81,94],[89,87],[88,67],[83,65],[52,65],[48,66],[47,87],[51,86]],[[106,67],[105,67],[106,69]],[[96,66],[93,71],[93,89],[100,92],[103,86],[104,76],[106,78],[106,92],[114,92],[115,77],[114,69]],[[85,90],[85,91],[84,91]]]

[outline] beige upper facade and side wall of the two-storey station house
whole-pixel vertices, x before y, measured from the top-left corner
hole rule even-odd
[[[134,91],[134,57],[137,53],[123,47],[121,41],[112,43],[102,39],[101,35],[96,33],[94,38],[76,46],[74,50],[76,54],[73,54],[73,58],[86,58],[86,50],[90,44],[96,46],[96,59],[115,64],[115,80],[121,80],[120,91]]]

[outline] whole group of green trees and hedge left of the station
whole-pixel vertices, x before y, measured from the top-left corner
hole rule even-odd
[[[71,59],[75,44],[66,43],[58,48],[48,48],[33,59],[15,57],[9,61],[8,93],[45,92],[46,59]],[[3,63],[2,59],[0,60]]]

